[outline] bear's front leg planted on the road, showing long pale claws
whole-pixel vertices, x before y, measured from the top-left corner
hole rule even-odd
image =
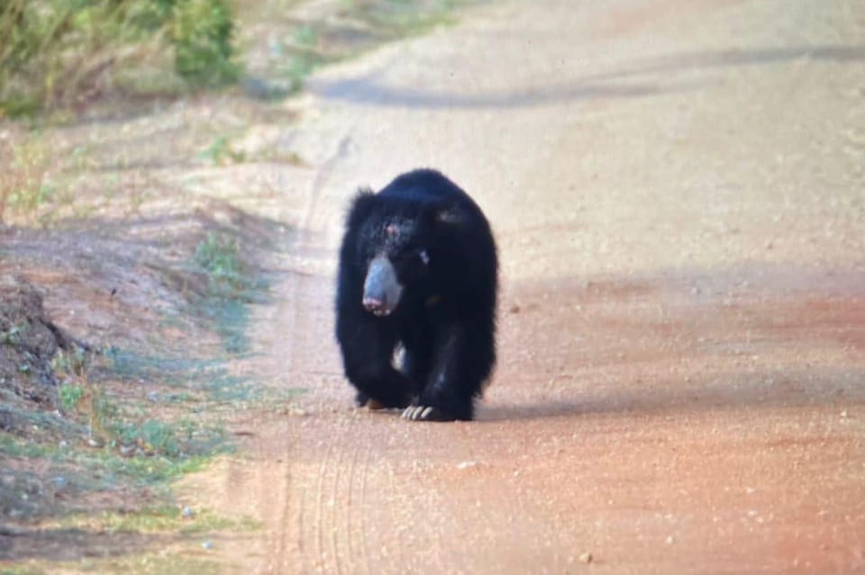
[[[492,368],[494,354],[488,330],[455,326],[443,331],[435,346],[426,387],[417,405],[405,409],[403,418],[415,421],[471,419],[474,398]]]

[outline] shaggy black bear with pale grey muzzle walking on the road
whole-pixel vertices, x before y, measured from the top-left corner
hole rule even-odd
[[[358,405],[471,419],[496,363],[497,276],[487,218],[444,175],[414,170],[378,193],[361,190],[336,292],[336,338]]]

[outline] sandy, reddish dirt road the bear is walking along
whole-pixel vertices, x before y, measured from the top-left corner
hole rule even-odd
[[[185,491],[261,520],[227,571],[865,572],[860,2],[499,4],[310,91],[239,366],[307,392]],[[345,202],[414,166],[499,243],[476,422],[353,409],[341,377]]]

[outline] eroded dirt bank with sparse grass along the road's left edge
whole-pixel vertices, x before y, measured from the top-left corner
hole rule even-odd
[[[282,228],[224,202],[92,223],[0,229],[0,564],[10,568],[188,547],[197,542],[184,529],[233,525],[204,507],[184,518],[168,486],[231,447],[232,398],[259,397],[226,362],[247,353],[263,255]]]

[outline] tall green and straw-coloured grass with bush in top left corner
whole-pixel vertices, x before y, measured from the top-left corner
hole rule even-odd
[[[112,83],[134,88],[123,79],[147,72],[150,84],[232,83],[241,73],[234,32],[229,0],[7,0],[0,117],[77,103]]]

